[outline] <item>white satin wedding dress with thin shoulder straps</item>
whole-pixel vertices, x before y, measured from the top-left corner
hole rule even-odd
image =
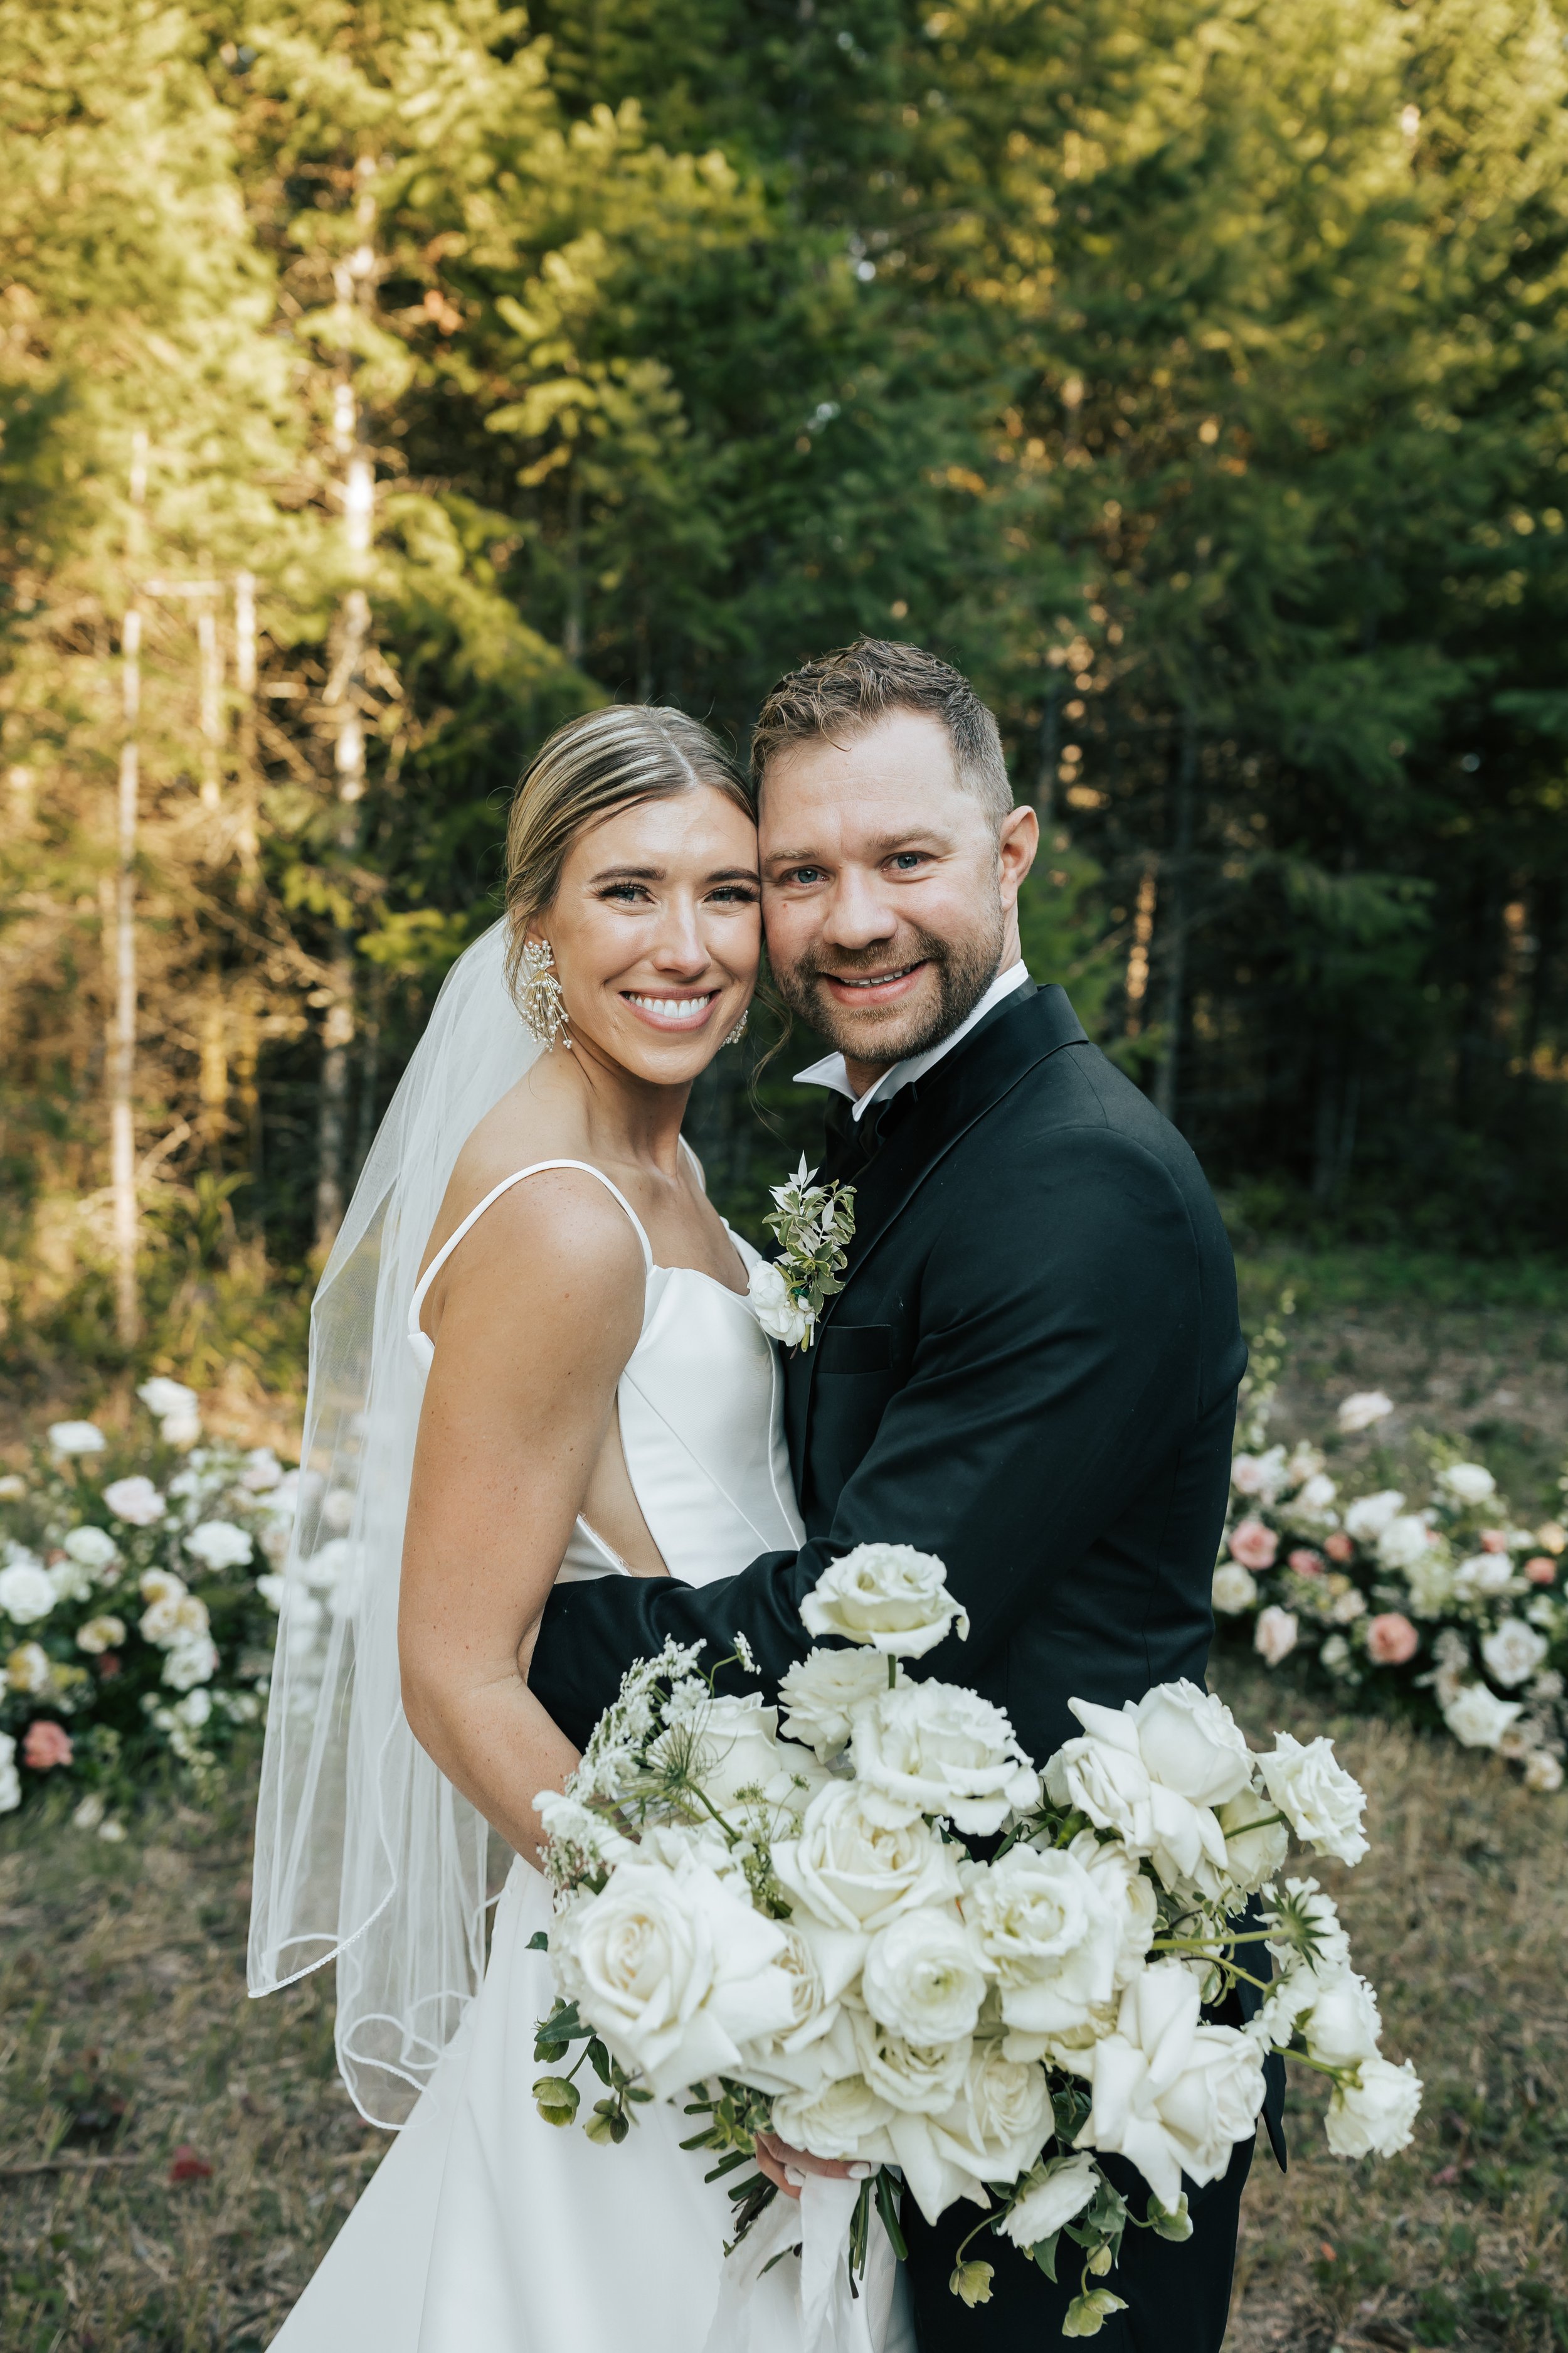
[[[463,1219],[409,1308],[421,1365],[435,1358],[418,1311],[437,1268],[501,1193],[545,1167],[597,1176],[642,1242],[646,1294],[621,1374],[621,1445],[670,1572],[710,1584],[757,1553],[795,1548],[802,1525],[773,1344],[743,1292],[691,1266],[656,1266],[630,1202],[588,1162],[517,1169]],[[733,1242],[750,1271],[757,1252]],[[559,1574],[630,1572],[578,1520]],[[679,2106],[644,2106],[618,2148],[595,2146],[581,2125],[543,2122],[534,2028],[555,1988],[548,1958],[527,1946],[548,1927],[548,1887],[517,1859],[480,1995],[275,2353],[703,2353],[731,2202],[722,2181],[703,2179],[705,2155],[679,2148],[696,2129]],[[719,2322],[712,2353],[802,2353],[797,2273],[795,2259],[776,2264],[743,2320]],[[893,2287],[884,2264],[867,2287],[863,2341],[875,2353],[912,2346],[903,2280]]]

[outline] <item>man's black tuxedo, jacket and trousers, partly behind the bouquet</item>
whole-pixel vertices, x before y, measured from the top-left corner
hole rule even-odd
[[[844,1289],[785,1372],[806,1544],[710,1586],[557,1586],[529,1685],[578,1744],[670,1633],[724,1654],[741,1628],[773,1685],[809,1649],[802,1595],[867,1541],[945,1560],[969,1642],[914,1673],[994,1699],[1037,1758],[1079,1729],[1072,1697],[1119,1706],[1204,1680],[1246,1348],[1192,1151],[1060,988],[1009,998],[870,1120],[832,1122],[856,1235]],[[1133,2311],[1105,2327],[1107,2353],[1220,2344],[1244,2169],[1239,2153],[1194,2200],[1185,2245],[1128,2231],[1110,2285]],[[1053,2339],[1077,2280],[1053,2289],[1004,2242],[983,2249],[990,2306],[947,2294],[961,2212],[936,2231],[912,2217],[922,2353]]]

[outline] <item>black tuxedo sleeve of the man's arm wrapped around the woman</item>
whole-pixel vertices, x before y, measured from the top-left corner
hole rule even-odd
[[[992,1174],[990,1200],[954,1179],[917,1271],[910,1377],[827,1537],[710,1586],[604,1577],[550,1595],[529,1687],[578,1746],[665,1635],[729,1649],[741,1631],[771,1687],[811,1647],[802,1595],[856,1544],[914,1544],[947,1562],[971,1619],[969,1680],[1234,1384],[1234,1365],[1204,1367],[1199,1245],[1173,1176],[1140,1144],[1110,1127],[1051,1129]],[[959,1659],[943,1652],[940,1671],[959,1673]]]

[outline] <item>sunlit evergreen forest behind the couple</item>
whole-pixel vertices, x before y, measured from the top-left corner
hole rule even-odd
[[[1552,0],[0,0],[14,1367],[296,1381],[538,739],[860,631],[1237,1233],[1561,1247],[1566,94]]]

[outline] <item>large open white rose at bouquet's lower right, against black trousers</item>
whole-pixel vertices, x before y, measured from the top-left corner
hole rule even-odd
[[[1164,2207],[1218,2181],[1262,2108],[1262,2052],[1234,2026],[1204,2026],[1199,1988],[1159,1960],[1121,1995],[1117,2031],[1074,2061],[1093,2106],[1079,2146],[1119,2151]]]

